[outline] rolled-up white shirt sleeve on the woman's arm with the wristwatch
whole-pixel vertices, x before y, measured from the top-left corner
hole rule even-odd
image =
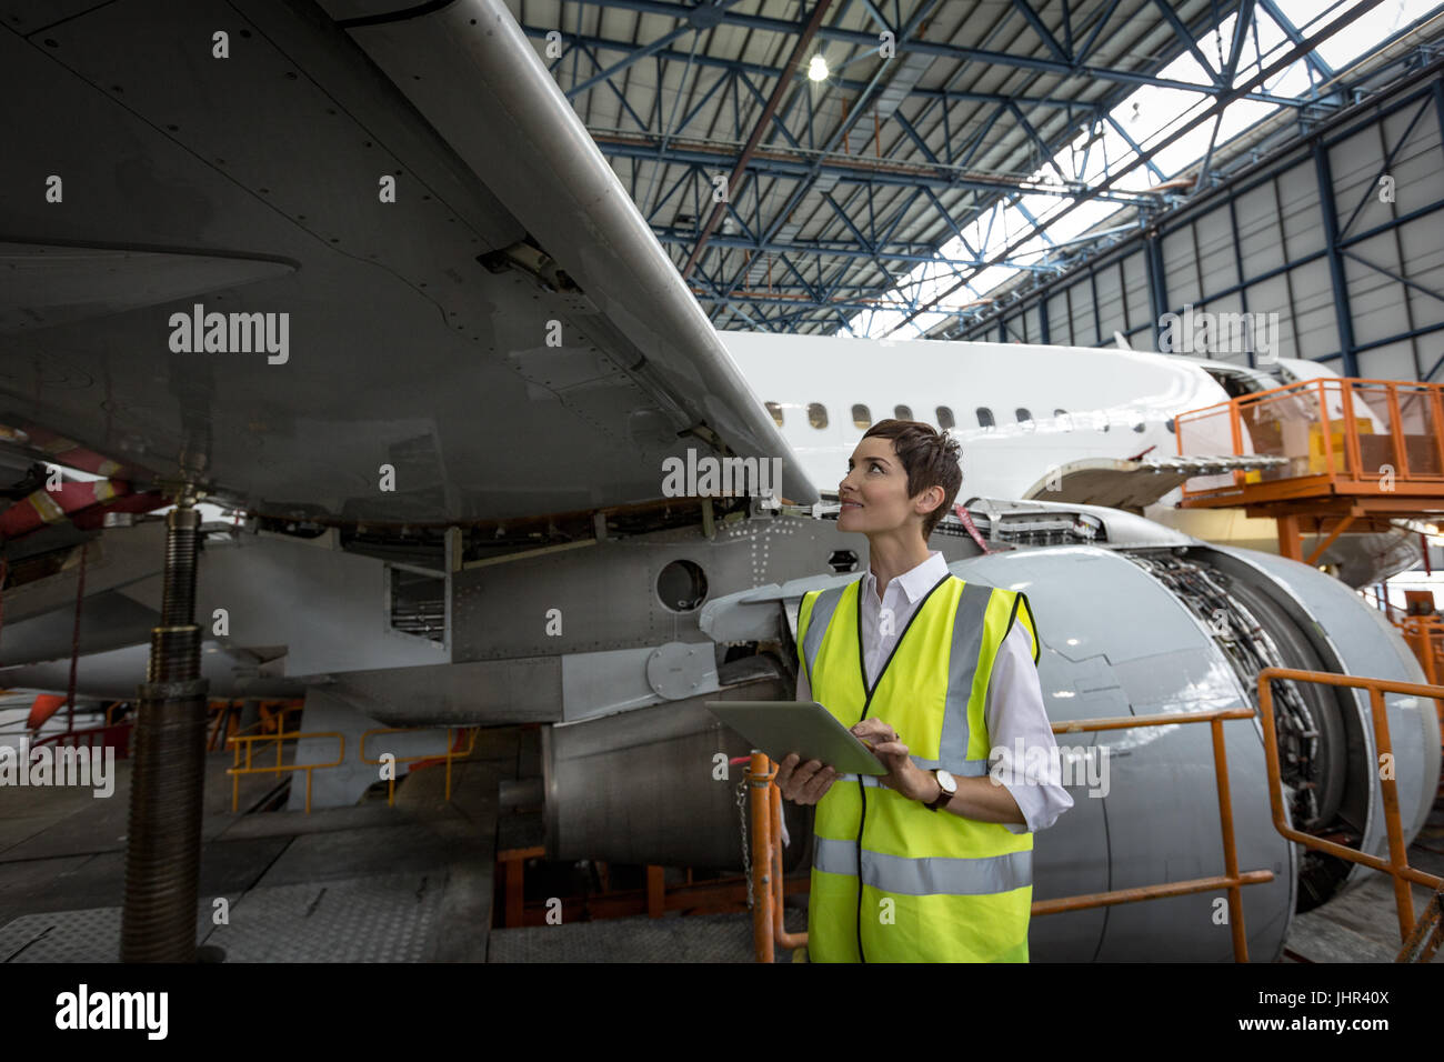
[[[1073,798],[1058,785],[1044,764],[1057,763],[1057,741],[1043,707],[1043,685],[1038,666],[1032,662],[1032,636],[1021,623],[1014,623],[998,649],[992,676],[988,681],[985,709],[988,735],[1004,766],[1004,777],[1021,779],[1002,786],[1018,802],[1027,824],[1004,822],[1009,832],[1032,834],[1051,826],[1058,815],[1073,806]],[[1022,741],[1022,763],[1015,763],[1018,741]],[[1045,757],[1028,756],[1030,748],[1044,748]]]

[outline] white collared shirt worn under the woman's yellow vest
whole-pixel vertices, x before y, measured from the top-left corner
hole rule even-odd
[[[862,585],[858,588],[862,594],[862,663],[869,685],[877,682],[878,672],[907,630],[918,603],[944,575],[947,562],[934,549],[923,564],[888,581],[881,600],[878,600],[878,579],[872,571],[862,577]],[[891,610],[892,616],[885,633],[881,630],[884,610]],[[797,699],[812,701],[812,683],[807,682],[807,673],[801,668],[797,669]],[[1043,708],[1043,686],[1038,682],[1038,668],[1032,662],[1032,637],[1021,623],[1012,624],[1012,630],[998,649],[992,676],[988,679],[983,718],[988,722],[988,737],[1002,760],[1004,777],[1022,777],[1021,783],[1004,782],[1002,786],[1018,802],[1018,811],[1027,824],[1002,825],[1014,834],[1047,829],[1058,815],[1073,806],[1073,798],[1063,786],[1048,782],[1043,774],[1043,764],[1053,761],[1056,753],[1051,750],[1057,748],[1057,743],[1053,740],[1048,714]],[[1022,770],[1015,763],[1014,751],[1019,738],[1024,750],[1035,746],[1048,750],[1047,757],[1024,753],[1022,766],[1031,764],[1031,770]],[[907,744],[905,735],[902,744]]]

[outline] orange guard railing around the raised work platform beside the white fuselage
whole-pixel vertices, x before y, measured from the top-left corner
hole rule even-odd
[[[1175,428],[1180,455],[1285,458],[1274,468],[1194,477],[1184,484],[1184,500],[1266,484],[1279,484],[1268,491],[1274,497],[1444,496],[1444,384],[1301,380],[1180,413]]]

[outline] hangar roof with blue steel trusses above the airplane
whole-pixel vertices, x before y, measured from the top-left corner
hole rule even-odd
[[[1056,263],[1012,257],[1037,237],[1031,225],[992,257],[962,238],[1024,195],[1057,197],[1069,210],[1116,202],[1134,208],[1134,220],[1180,202],[1187,186],[1168,181],[1155,156],[1235,100],[1282,105],[1304,124],[1327,117],[1347,92],[1315,88],[1334,72],[1313,49],[1380,3],[1333,4],[1308,30],[1276,0],[510,7],[712,321],[830,334],[868,309],[926,309],[900,290],[921,263],[940,262],[954,288],[995,264],[1056,273]],[[1287,42],[1242,71],[1238,58],[1259,17]],[[809,77],[816,55],[827,66],[817,81]],[[1206,77],[1161,74],[1183,55]],[[1310,65],[1308,91],[1268,91],[1271,77],[1300,61]],[[1141,85],[1210,103],[1145,149],[1109,113]],[[1132,150],[1100,170],[1095,163],[1089,181],[1053,162],[1070,144],[1099,150],[1105,131]],[[940,259],[950,241],[963,250]]]

